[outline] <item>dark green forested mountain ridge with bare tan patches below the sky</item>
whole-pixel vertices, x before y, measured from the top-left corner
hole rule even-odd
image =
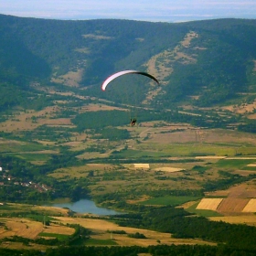
[[[121,69],[153,73],[161,91],[142,86],[139,93],[144,103],[154,95],[161,107],[182,101],[209,106],[256,90],[255,20],[169,24],[2,15],[0,32],[1,82],[19,90],[35,80],[93,85],[87,93],[102,98],[102,80]]]

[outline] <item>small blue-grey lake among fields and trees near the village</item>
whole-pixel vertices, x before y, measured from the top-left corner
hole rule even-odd
[[[92,213],[97,215],[115,215],[122,214],[122,212],[117,212],[113,209],[109,208],[99,208],[95,205],[95,203],[89,199],[80,199],[77,202],[73,203],[57,203],[48,205],[56,208],[69,208],[72,211],[78,213]]]

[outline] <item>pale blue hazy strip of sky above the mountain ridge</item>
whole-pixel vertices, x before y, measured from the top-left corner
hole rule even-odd
[[[256,18],[256,0],[0,0],[0,14],[166,22],[220,17]]]

